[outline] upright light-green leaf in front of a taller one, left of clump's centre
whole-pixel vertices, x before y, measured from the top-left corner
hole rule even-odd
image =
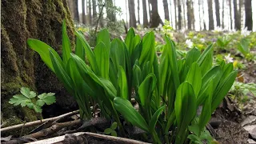
[[[94,48],[94,54],[100,75],[102,78],[109,79],[110,55],[105,44],[98,42]]]

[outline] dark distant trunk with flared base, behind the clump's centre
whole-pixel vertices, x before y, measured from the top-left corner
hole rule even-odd
[[[163,22],[158,14],[158,1],[151,0],[150,3],[152,6],[152,11],[150,15],[150,27],[158,27],[160,23],[163,25]]]

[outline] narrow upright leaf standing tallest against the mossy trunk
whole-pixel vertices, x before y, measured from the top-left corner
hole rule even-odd
[[[70,38],[66,32],[66,22],[65,19],[62,22],[62,58],[63,62],[66,64],[70,59],[71,47],[70,47]]]

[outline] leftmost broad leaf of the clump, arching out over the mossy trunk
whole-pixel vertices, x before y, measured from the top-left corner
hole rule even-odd
[[[41,42],[37,39],[29,38],[27,40],[27,44],[30,46],[30,49],[38,52],[40,57],[42,58],[42,61],[46,63],[46,66],[50,68],[50,70],[54,71],[54,66],[50,58],[50,50],[55,55],[55,57],[58,59],[58,61],[62,61],[62,59],[59,57],[58,53],[51,48],[49,45],[47,45],[45,42]],[[55,71],[54,71],[55,72]]]

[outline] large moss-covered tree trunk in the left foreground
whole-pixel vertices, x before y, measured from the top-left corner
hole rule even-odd
[[[19,94],[22,86],[28,86],[38,94],[56,93],[57,103],[51,106],[66,107],[62,110],[75,106],[74,98],[66,93],[38,53],[26,44],[28,38],[37,38],[59,52],[62,50],[62,19],[65,18],[71,46],[74,47],[74,23],[67,1],[2,1],[1,9],[1,121],[7,122],[5,126],[13,126],[42,118],[34,110],[8,102],[14,94]],[[58,110],[54,112],[63,112]],[[24,129],[22,134],[28,134],[30,130]],[[19,134],[21,130],[11,132],[14,137],[19,137]]]

